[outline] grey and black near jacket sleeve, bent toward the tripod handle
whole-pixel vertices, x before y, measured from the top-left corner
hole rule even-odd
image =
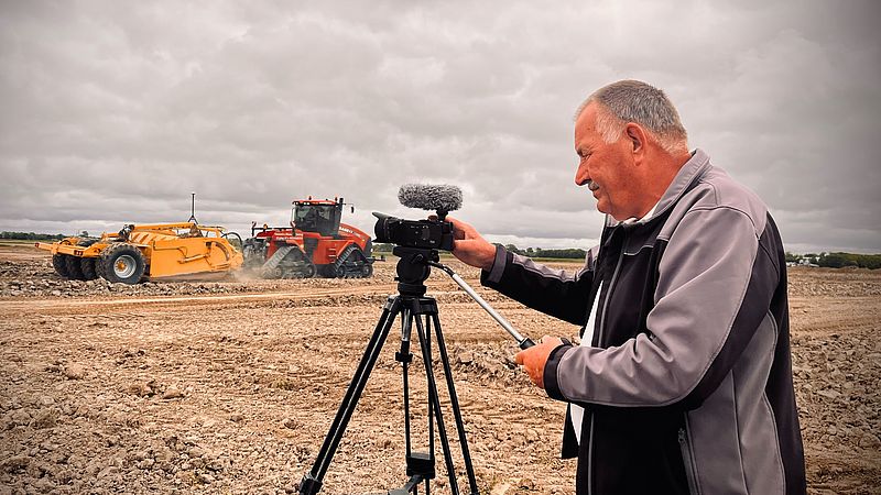
[[[759,243],[763,229],[732,208],[686,213],[661,258],[648,332],[608,349],[557,348],[547,394],[619,407],[699,405],[768,315],[779,268]]]

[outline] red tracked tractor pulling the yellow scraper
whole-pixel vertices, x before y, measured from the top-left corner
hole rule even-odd
[[[373,242],[355,227],[340,223],[342,198],[300,199],[291,227],[257,227],[242,248],[244,267],[264,278],[362,278],[373,274]],[[352,207],[352,211],[355,208]]]

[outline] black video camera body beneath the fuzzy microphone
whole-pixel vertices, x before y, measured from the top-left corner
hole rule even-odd
[[[404,220],[384,213],[377,217],[378,242],[405,248],[453,251],[453,223],[444,220]]]

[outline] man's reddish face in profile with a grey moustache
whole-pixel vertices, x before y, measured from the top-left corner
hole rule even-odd
[[[579,157],[575,184],[590,189],[599,211],[627,220],[639,215],[632,142],[622,133],[618,141],[607,144],[597,132],[596,121],[596,103],[590,103],[575,122],[575,153]]]

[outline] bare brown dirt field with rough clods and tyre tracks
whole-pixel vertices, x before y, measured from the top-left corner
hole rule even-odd
[[[449,264],[479,287],[477,271]],[[0,246],[0,494],[293,491],[396,293],[393,271],[378,263],[367,280],[128,287],[63,280],[36,250]],[[809,492],[881,493],[881,271],[793,268],[790,277]],[[575,463],[557,459],[564,405],[512,366],[514,342],[446,275],[435,271],[426,285],[480,493],[573,493]],[[478,290],[533,338],[577,336]],[[393,330],[320,493],[404,483],[399,346]],[[464,475],[459,483],[467,493]]]

